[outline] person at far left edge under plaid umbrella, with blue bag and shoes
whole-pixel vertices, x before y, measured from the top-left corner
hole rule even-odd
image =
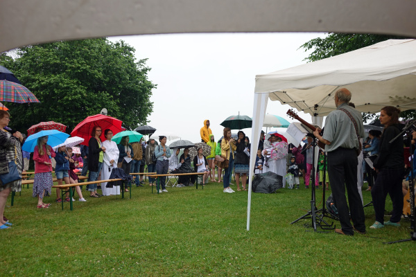
[[[8,162],[16,161],[17,171],[21,177],[23,168],[21,142],[23,141],[23,136],[21,136],[20,132],[10,134],[5,129],[9,122],[10,114],[8,111],[0,110],[0,171],[5,172],[6,168],[8,169]],[[8,229],[8,225],[11,225],[4,220],[4,208],[11,190],[15,192],[21,190],[21,179],[8,184],[2,184],[0,181],[0,229]]]

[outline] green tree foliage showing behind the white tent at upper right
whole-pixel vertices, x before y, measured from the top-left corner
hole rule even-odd
[[[370,46],[387,39],[405,39],[408,37],[398,37],[395,35],[373,35],[373,34],[338,34],[329,33],[326,37],[317,37],[311,39],[300,46],[305,51],[313,49],[304,60],[315,62],[327,57],[333,57],[349,51],[354,51],[365,46]],[[415,118],[416,111],[414,109],[402,111],[400,116],[404,119]],[[363,120],[367,121],[376,117],[374,114],[363,113]]]

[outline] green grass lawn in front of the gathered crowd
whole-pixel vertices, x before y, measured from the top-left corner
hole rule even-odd
[[[232,186],[236,190],[236,186]],[[311,220],[290,224],[310,207],[311,190],[253,194],[246,231],[247,192],[223,193],[210,183],[132,188],[132,199],[87,197],[37,209],[32,189],[10,198],[1,230],[0,276],[415,276],[416,244],[383,244],[410,238],[410,222],[384,229],[365,208],[367,235],[313,232]],[[363,191],[365,203],[370,192]],[[329,193],[327,193],[329,195]],[[322,190],[318,192],[318,204]],[[78,196],[76,197],[78,200]],[[391,209],[388,200],[387,209]],[[386,219],[387,220],[387,219]],[[332,222],[332,220],[329,220]],[[339,227],[339,223],[335,222]]]

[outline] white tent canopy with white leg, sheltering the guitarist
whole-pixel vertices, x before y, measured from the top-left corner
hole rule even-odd
[[[316,119],[336,109],[332,97],[340,87],[352,92],[358,111],[376,113],[387,105],[416,109],[416,39],[390,39],[343,55],[257,75],[251,141],[259,138],[268,98]],[[257,151],[256,147],[252,143],[250,151]],[[251,157],[250,172],[254,163],[255,157]],[[250,179],[248,230],[251,187]]]

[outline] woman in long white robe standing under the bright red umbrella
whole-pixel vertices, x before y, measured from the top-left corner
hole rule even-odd
[[[101,170],[101,180],[110,179],[110,175],[113,168],[117,168],[117,160],[119,159],[119,148],[117,144],[112,141],[113,133],[110,129],[105,129],[105,141],[103,141],[103,147],[105,147],[103,157],[103,169]],[[101,190],[104,196],[119,195],[120,186],[113,186],[112,188],[106,188],[107,183],[101,184]]]

